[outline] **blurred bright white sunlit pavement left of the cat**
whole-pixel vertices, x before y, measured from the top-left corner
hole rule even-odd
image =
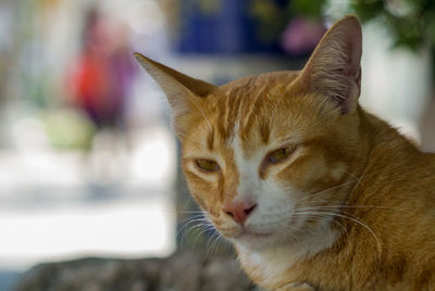
[[[0,269],[85,255],[170,254],[175,141],[164,126],[129,149],[104,137],[92,154],[0,152]],[[105,144],[105,146],[104,146]]]

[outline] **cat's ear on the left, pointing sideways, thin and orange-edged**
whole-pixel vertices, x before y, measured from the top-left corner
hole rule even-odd
[[[191,113],[201,111],[200,99],[209,96],[216,87],[184,75],[140,53],[135,52],[134,55],[166,94],[172,107],[174,129],[178,136],[183,136]]]

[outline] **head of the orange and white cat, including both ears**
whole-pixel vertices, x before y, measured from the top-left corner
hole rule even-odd
[[[333,227],[326,213],[359,155],[357,17],[336,23],[302,71],[221,87],[136,58],[167,96],[189,189],[221,233],[261,249]]]

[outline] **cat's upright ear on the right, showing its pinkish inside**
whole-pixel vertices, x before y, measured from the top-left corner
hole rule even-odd
[[[301,75],[301,87],[325,96],[343,114],[358,106],[361,91],[361,25],[357,16],[336,22],[323,36]]]

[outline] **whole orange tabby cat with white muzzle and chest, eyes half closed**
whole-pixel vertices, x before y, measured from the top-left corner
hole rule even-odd
[[[191,194],[260,287],[435,290],[435,156],[358,104],[357,17],[302,71],[221,87],[136,58],[172,105]]]

